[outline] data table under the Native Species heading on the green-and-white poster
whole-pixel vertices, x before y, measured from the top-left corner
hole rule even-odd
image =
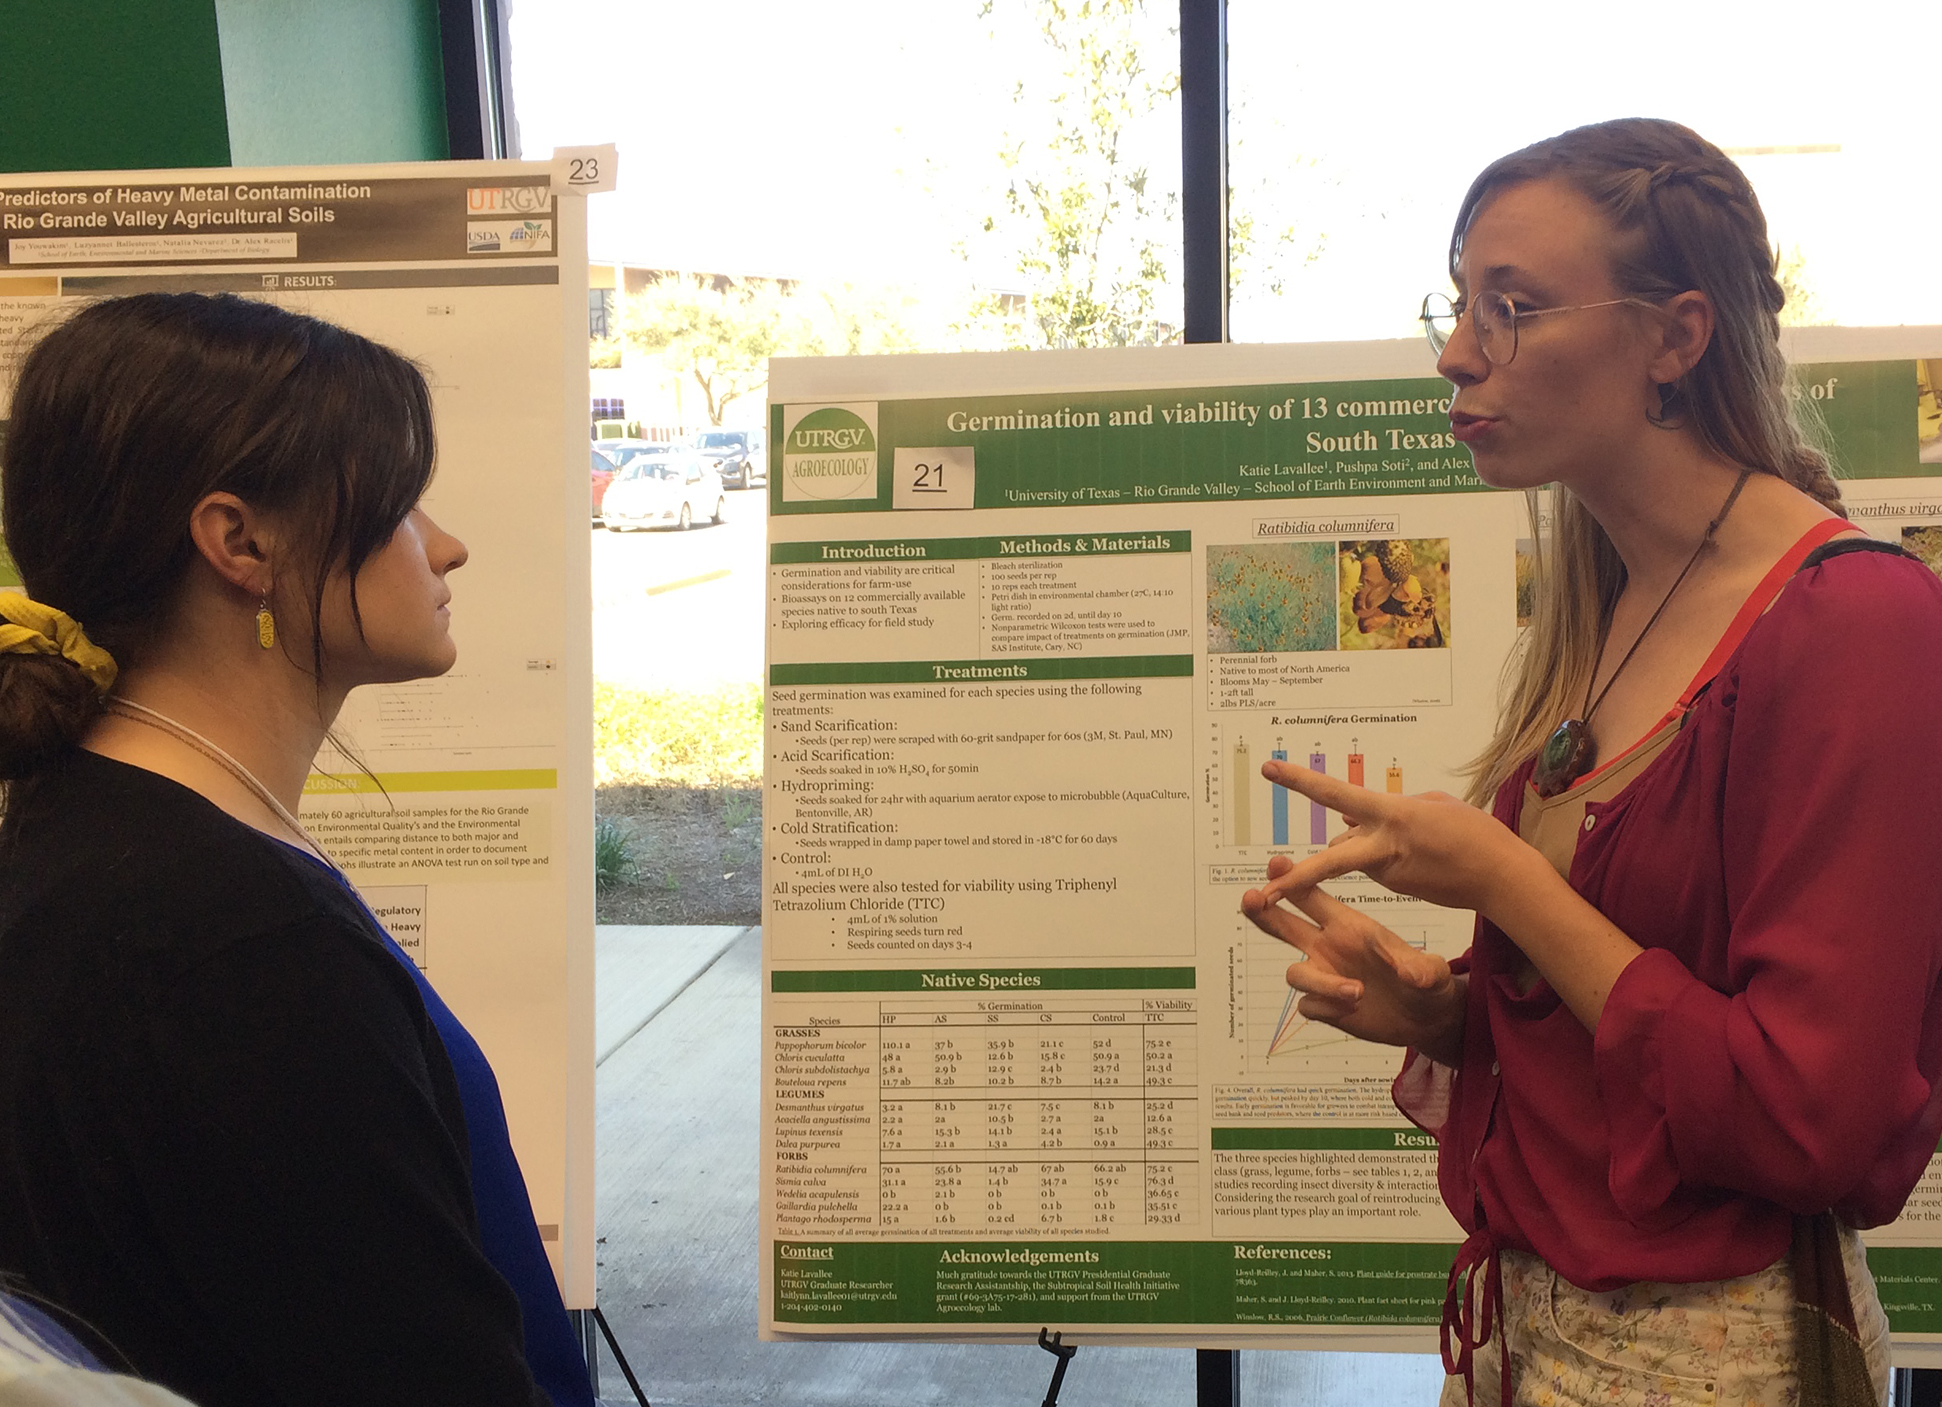
[[[804,1145],[777,1174],[783,1225],[814,1234],[841,1215],[853,1230],[963,1234],[1198,1221],[1196,1019],[1189,996],[899,994],[781,1025],[777,1133]],[[841,1139],[818,1137],[833,1120]]]

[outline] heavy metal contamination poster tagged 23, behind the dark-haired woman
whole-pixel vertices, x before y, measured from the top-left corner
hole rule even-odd
[[[418,361],[458,666],[359,689],[303,821],[491,1058],[567,1304],[592,1304],[586,202],[548,163],[0,177],[0,421],[89,299],[237,293]],[[0,584],[16,580],[0,567]]]

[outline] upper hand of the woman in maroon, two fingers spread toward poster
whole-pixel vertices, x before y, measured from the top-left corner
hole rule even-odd
[[[1282,871],[1270,866],[1268,902],[1361,871],[1398,895],[1484,912],[1497,881],[1536,856],[1493,817],[1443,792],[1389,796],[1293,763],[1266,763],[1260,774],[1348,821],[1321,854]]]

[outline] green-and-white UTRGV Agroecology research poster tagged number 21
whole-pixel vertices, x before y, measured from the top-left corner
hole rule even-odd
[[[1942,571],[1942,330],[1791,353],[1857,520]],[[1427,349],[769,392],[763,1333],[1431,1349],[1460,1232],[1398,1052],[1303,1021],[1239,910],[1342,827],[1262,761],[1462,792],[1490,734],[1532,526]],[[1942,1343],[1942,1180],[1870,1244],[1903,1345]]]

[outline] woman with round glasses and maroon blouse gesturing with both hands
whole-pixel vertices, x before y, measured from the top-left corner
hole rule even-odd
[[[1942,586],[1841,516],[1719,147],[1622,120],[1503,157],[1451,278],[1453,433],[1554,524],[1491,813],[1268,763],[1350,829],[1243,906],[1305,953],[1303,1015],[1408,1048],[1468,1232],[1447,1403],[1882,1401],[1855,1228],[1942,1133]],[[1319,889],[1350,871],[1474,908],[1470,951]]]

